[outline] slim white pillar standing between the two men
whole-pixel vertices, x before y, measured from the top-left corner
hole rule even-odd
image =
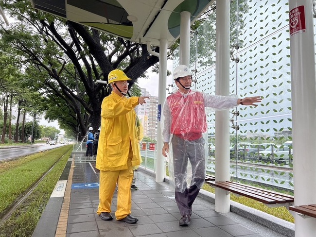
[[[162,155],[162,137],[161,137],[161,125],[160,116],[163,103],[166,100],[166,88],[167,88],[167,39],[160,39],[160,57],[159,57],[159,85],[158,85],[158,126],[157,126],[157,164],[156,164],[156,182],[163,182],[163,178],[166,174],[165,157]]]

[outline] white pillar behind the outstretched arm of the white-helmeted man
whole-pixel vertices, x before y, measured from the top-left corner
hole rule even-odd
[[[229,5],[216,1],[216,95],[229,95]],[[229,111],[215,114],[215,180],[229,180]],[[216,188],[215,211],[230,211],[230,195]]]

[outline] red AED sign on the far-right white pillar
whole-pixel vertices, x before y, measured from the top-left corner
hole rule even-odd
[[[289,13],[290,36],[306,31],[304,5],[293,8]]]

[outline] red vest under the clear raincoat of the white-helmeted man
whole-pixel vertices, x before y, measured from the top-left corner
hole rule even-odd
[[[207,131],[203,94],[194,92],[185,98],[176,92],[167,97],[167,102],[172,120],[171,134],[189,141],[202,137]]]

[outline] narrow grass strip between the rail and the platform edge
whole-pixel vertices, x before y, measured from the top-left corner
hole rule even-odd
[[[0,237],[32,236],[37,222],[72,152],[72,147],[67,147],[69,150],[64,157],[58,161],[50,173],[35,187],[34,191],[26,198],[23,204],[12,213],[11,217],[5,220],[0,226]],[[54,149],[55,152],[56,150]],[[60,152],[56,152],[55,156],[60,158]]]

